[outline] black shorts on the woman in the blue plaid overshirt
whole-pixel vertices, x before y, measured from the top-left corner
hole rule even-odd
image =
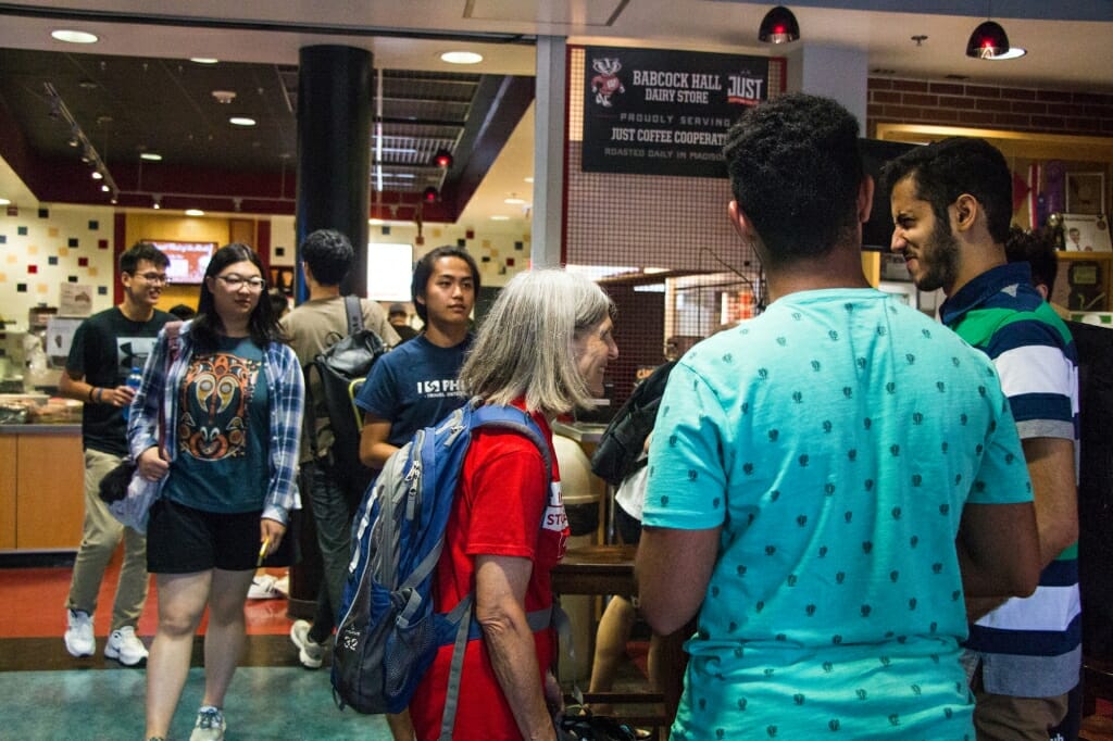
[[[147,523],[147,571],[152,574],[193,574],[210,569],[249,571],[259,560],[259,517],[263,512],[204,512],[158,500]],[[294,534],[287,530],[278,550],[264,566],[294,562]]]

